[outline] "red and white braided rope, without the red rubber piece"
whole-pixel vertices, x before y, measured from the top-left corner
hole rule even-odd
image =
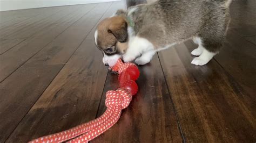
[[[114,68],[120,74],[131,65],[133,65],[133,63],[123,63],[121,60],[118,60]],[[70,130],[47,135],[30,142],[46,143],[63,142],[67,140],[69,140],[68,142],[88,142],[112,127],[120,118],[122,109],[127,108],[131,100],[132,94],[130,90],[126,88],[107,91],[105,101],[107,109],[99,118],[73,127]]]

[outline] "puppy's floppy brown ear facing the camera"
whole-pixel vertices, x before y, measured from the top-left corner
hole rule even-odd
[[[112,33],[119,42],[127,40],[127,23],[123,17],[111,17],[111,24],[107,32]]]

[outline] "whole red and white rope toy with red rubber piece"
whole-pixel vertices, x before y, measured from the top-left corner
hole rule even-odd
[[[122,109],[127,108],[132,100],[132,96],[138,91],[138,85],[135,81],[139,77],[139,69],[133,63],[123,63],[121,59],[110,69],[119,74],[118,81],[120,88],[106,92],[105,105],[107,109],[102,116],[69,130],[47,135],[30,142],[46,143],[67,140],[69,140],[68,142],[88,142],[116,124],[120,118]]]

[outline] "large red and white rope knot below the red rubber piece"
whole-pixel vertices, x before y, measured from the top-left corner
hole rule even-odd
[[[116,91],[110,90],[106,92],[105,104],[107,108],[120,105],[122,109],[125,109],[130,104],[131,100],[131,92],[126,88],[119,88]]]

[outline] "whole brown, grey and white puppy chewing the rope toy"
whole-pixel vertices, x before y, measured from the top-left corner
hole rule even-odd
[[[105,65],[121,57],[145,65],[157,51],[193,38],[199,46],[191,52],[198,56],[191,63],[205,65],[223,44],[231,1],[160,0],[118,10],[99,23],[95,42]]]

